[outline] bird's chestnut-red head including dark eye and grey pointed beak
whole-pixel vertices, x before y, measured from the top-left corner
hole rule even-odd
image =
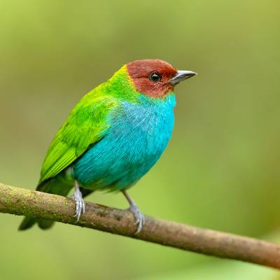
[[[181,80],[196,75],[193,71],[178,71],[160,59],[135,60],[127,64],[127,72],[137,91],[151,97],[164,97]]]

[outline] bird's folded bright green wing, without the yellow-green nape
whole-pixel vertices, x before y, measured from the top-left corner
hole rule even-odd
[[[104,137],[110,126],[106,117],[115,106],[115,99],[102,95],[98,87],[78,102],[48,148],[39,184],[62,172]]]

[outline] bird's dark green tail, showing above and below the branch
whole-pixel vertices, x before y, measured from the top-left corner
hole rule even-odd
[[[36,190],[43,193],[52,193],[55,195],[62,195],[66,197],[66,195],[68,195],[71,188],[73,188],[72,180],[69,181],[64,179],[62,176],[56,176],[53,179],[50,179],[48,181],[39,184]],[[38,223],[39,228],[41,228],[42,230],[47,230],[48,228],[51,228],[55,222],[45,220],[45,219],[40,219],[40,218],[25,217],[18,229],[27,230],[31,228],[33,225],[35,225],[36,223]]]

